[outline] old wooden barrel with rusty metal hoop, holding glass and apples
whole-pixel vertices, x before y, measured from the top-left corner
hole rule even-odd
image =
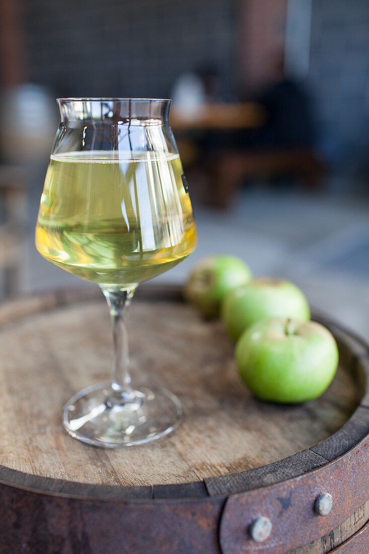
[[[176,393],[184,418],[167,438],[105,450],[61,426],[66,400],[110,376],[100,291],[3,303],[2,554],[369,552],[369,351],[329,326],[340,367],[326,393],[259,402],[221,322],[202,321],[176,287],[141,286],[132,373]]]

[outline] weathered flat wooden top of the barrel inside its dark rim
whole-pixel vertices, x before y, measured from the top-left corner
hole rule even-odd
[[[99,291],[0,306],[0,465],[93,485],[193,483],[309,449],[355,410],[359,385],[343,361],[314,402],[257,401],[240,381],[220,321],[204,322],[176,299],[153,300],[137,294],[132,302],[132,376],[177,394],[184,417],[169,437],[113,450],[84,445],[61,425],[75,392],[111,377],[110,319]]]

